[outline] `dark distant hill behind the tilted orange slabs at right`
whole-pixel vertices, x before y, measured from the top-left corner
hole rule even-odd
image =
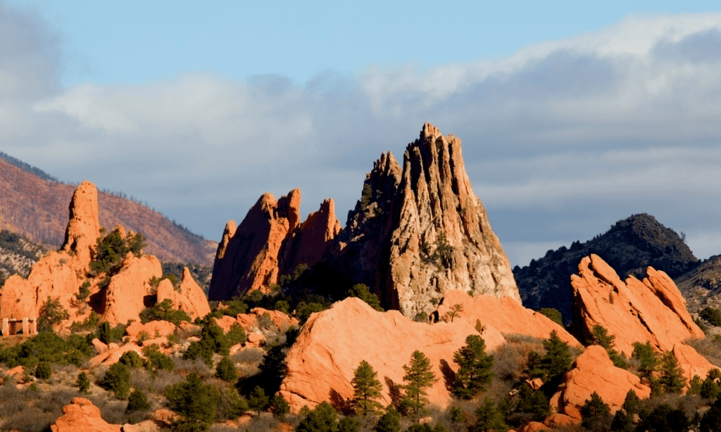
[[[622,279],[633,274],[645,275],[647,266],[681,276],[698,265],[689,246],[665,228],[655,217],[642,213],[616,222],[603,235],[585,243],[575,241],[570,248],[562,246],[531,264],[513,269],[523,305],[531,309],[554,307],[565,321],[572,318],[571,274],[578,271],[581,258],[591,253],[601,256]]]

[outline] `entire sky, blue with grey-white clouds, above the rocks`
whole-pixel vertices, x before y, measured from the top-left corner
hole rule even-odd
[[[219,240],[294,187],[345,222],[431,122],[513,265],[641,212],[721,252],[716,1],[248,3],[0,0],[0,150]]]

